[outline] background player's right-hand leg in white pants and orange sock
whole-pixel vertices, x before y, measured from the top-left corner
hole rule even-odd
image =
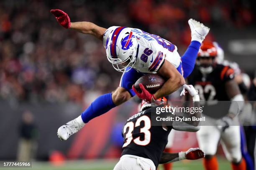
[[[240,126],[230,126],[221,133],[223,151],[232,163],[233,170],[246,170],[246,163],[241,153]]]

